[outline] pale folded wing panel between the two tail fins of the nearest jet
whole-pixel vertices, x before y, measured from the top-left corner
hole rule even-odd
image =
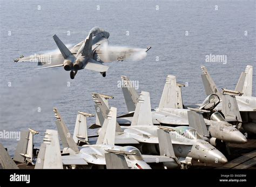
[[[84,112],[78,112],[76,125],[73,133],[73,140],[77,143],[78,146],[82,146],[88,142],[87,135],[87,122],[86,117],[94,116],[93,114],[87,114]]]

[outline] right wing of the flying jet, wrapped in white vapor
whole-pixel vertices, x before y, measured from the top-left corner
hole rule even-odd
[[[150,48],[149,48],[150,49]],[[146,57],[149,49],[132,49],[128,47],[102,46],[95,51],[94,59],[99,58],[103,63],[112,61],[123,61],[128,58],[132,60],[141,60]]]

